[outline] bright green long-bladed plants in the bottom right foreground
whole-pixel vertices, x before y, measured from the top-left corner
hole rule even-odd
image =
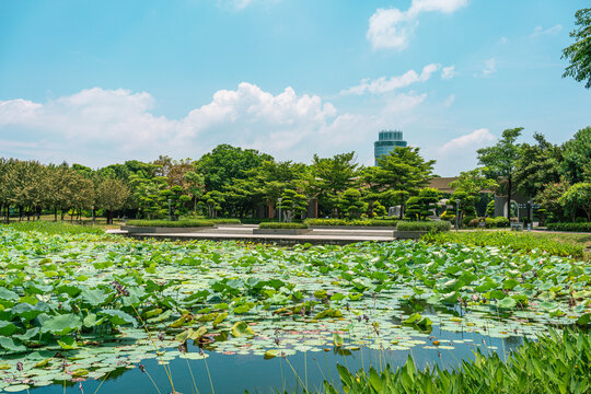
[[[526,341],[503,362],[497,352],[478,349],[474,360],[453,371],[418,371],[408,357],[396,371],[386,367],[355,374],[338,366],[343,390],[357,393],[589,393],[591,390],[591,335],[552,331],[538,341]],[[324,383],[324,393],[339,393]]]

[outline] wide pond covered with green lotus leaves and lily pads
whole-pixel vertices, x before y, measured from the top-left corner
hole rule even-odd
[[[337,362],[455,368],[591,320],[591,265],[536,251],[1,228],[0,266],[4,392],[313,389]]]

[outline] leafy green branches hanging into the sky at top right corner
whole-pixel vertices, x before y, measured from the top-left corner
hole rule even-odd
[[[582,9],[575,13],[577,26],[570,32],[575,44],[563,49],[563,59],[568,59],[568,66],[563,78],[572,77],[577,82],[584,82],[584,88],[591,88],[591,9]]]

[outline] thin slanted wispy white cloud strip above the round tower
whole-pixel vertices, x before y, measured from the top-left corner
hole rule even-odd
[[[412,85],[413,83],[417,82],[426,82],[428,81],[432,73],[439,70],[441,66],[431,63],[427,65],[422,68],[422,71],[420,74],[416,72],[415,70],[408,70],[402,76],[385,78],[381,77],[375,80],[371,79],[364,79],[361,81],[360,84],[349,88],[347,90],[344,90],[340,92],[340,94],[348,95],[348,94],[363,94],[366,92],[373,93],[373,94],[382,94],[392,92],[396,89],[407,88]]]

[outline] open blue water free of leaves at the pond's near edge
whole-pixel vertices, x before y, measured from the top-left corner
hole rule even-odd
[[[440,368],[459,368],[462,360],[473,357],[473,351],[482,349],[483,352],[497,351],[501,358],[519,345],[522,339],[510,337],[506,339],[489,338],[479,334],[462,334],[442,332],[439,327],[433,327],[431,335],[440,340],[440,346],[449,345],[450,340],[464,339],[471,340],[464,344],[454,344],[454,349],[425,349],[421,345],[415,346],[412,350],[379,351],[368,348],[361,348],[351,351],[350,355],[339,355],[336,349],[331,351],[317,351],[289,356],[287,362],[282,358],[265,360],[262,356],[242,356],[242,355],[222,355],[209,352],[207,367],[211,375],[208,378],[206,363],[204,360],[175,359],[170,362],[172,380],[177,392],[183,394],[196,393],[195,385],[189,372],[189,366],[195,376],[196,386],[199,393],[211,393],[211,384],[216,393],[277,393],[283,389],[288,392],[301,392],[302,385],[314,392],[320,389],[324,380],[333,381],[338,384],[338,373],[336,364],[340,363],[348,367],[350,371],[357,371],[361,367],[369,369],[370,366],[380,369],[386,363],[391,368],[403,366],[408,355],[412,355],[417,367],[424,369],[428,366],[438,364]],[[426,339],[426,338],[419,338]],[[430,345],[430,340],[426,340]],[[445,343],[448,341],[448,343]],[[497,349],[490,349],[496,347]],[[197,351],[189,348],[189,351]],[[150,359],[143,362],[147,371],[157,383],[162,394],[172,392],[171,384],[166,378],[164,368],[157,360]],[[291,364],[291,367],[290,367]],[[293,369],[292,369],[293,368]],[[82,382],[84,394],[94,393],[101,381],[88,380]],[[58,393],[81,393],[79,383],[66,386],[50,385],[31,390],[35,394],[58,394]],[[139,369],[119,370],[112,373],[112,378],[103,382],[97,393],[124,393],[124,394],[144,394],[158,393],[157,389],[146,373]]]

